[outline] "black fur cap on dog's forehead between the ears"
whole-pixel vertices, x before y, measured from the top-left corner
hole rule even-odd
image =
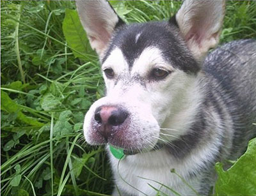
[[[136,41],[136,35],[141,33]],[[173,67],[186,73],[196,74],[200,70],[199,64],[187,49],[184,41],[179,36],[179,29],[175,22],[148,22],[147,24],[132,24],[117,29],[102,63],[106,61],[115,47],[122,50],[125,60],[130,68],[134,59],[140,56],[147,47],[157,47]]]

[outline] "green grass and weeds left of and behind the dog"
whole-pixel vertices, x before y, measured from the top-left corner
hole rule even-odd
[[[168,20],[180,6],[111,3],[126,22]],[[83,33],[82,49],[65,34],[65,13],[76,17],[75,9],[73,1],[1,1],[2,195],[111,194],[104,149],[87,146],[82,134],[104,84]],[[255,38],[255,29],[256,2],[228,1],[221,43]]]

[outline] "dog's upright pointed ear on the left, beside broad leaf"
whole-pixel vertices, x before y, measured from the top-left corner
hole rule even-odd
[[[108,1],[76,1],[76,7],[91,47],[101,57],[115,27],[124,22],[116,15]]]

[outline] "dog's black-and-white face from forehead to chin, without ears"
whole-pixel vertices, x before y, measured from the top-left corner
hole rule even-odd
[[[177,94],[182,94],[199,70],[172,30],[176,33],[177,27],[166,22],[135,24],[116,32],[102,56],[106,97],[95,102],[84,119],[90,144],[109,142],[133,151],[156,145],[161,124],[172,112],[170,106],[179,107]],[[178,60],[173,57],[177,50]],[[106,121],[115,113],[116,119],[122,114],[125,119],[119,124],[97,122],[97,112]]]

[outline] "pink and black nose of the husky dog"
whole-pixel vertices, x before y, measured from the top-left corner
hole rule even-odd
[[[102,106],[95,110],[94,119],[97,123],[118,126],[127,119],[128,112],[116,106]]]

